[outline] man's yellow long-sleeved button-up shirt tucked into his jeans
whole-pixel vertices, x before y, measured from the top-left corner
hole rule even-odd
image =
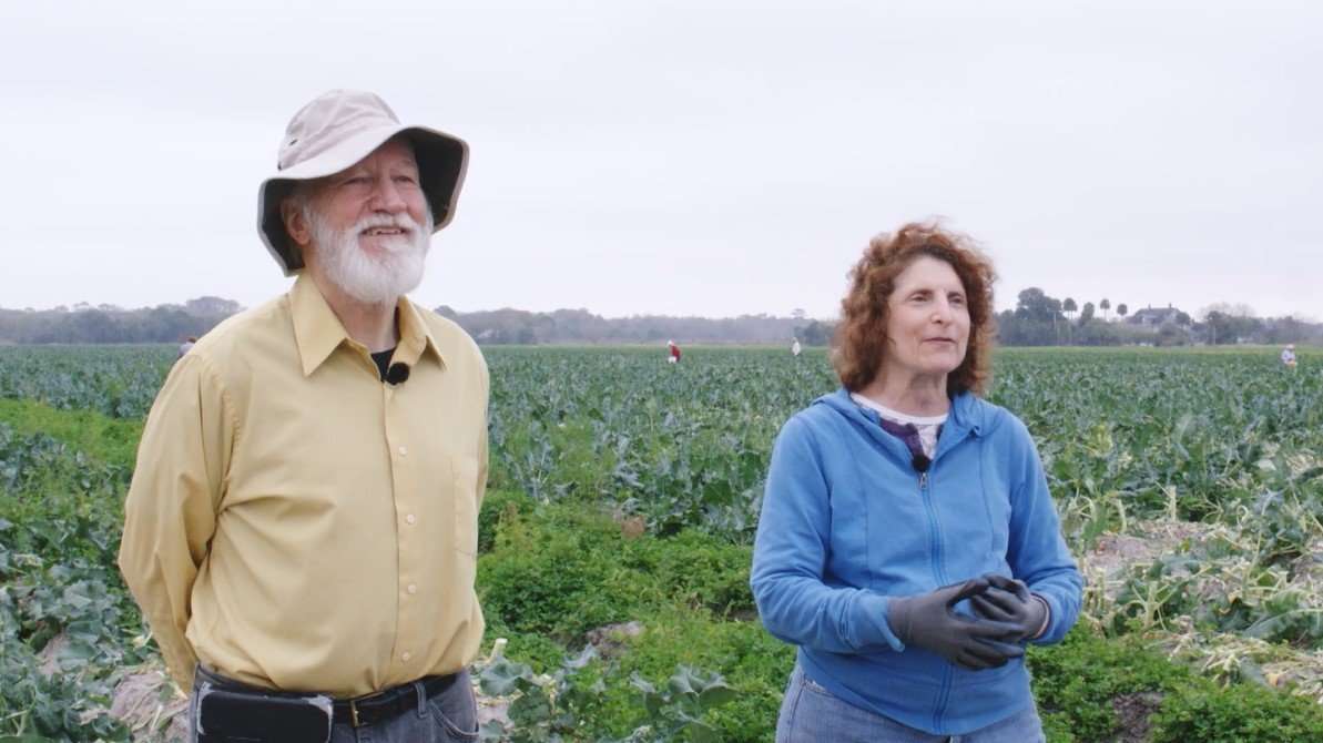
[[[356,697],[476,656],[487,366],[448,320],[404,297],[397,319],[390,385],[300,276],[165,379],[119,567],[181,689],[201,661]]]

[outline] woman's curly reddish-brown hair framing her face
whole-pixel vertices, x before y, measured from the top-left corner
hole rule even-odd
[[[996,274],[974,242],[935,222],[910,222],[893,234],[875,237],[849,272],[849,291],[840,301],[840,323],[832,341],[832,365],[849,391],[868,386],[886,352],[886,300],[898,276],[916,258],[930,256],[955,270],[970,311],[970,341],[964,361],[946,377],[946,390],[983,394],[991,379],[992,338],[996,333],[992,282]]]

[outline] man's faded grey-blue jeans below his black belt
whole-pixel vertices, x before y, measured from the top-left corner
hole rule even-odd
[[[201,676],[201,674],[200,674]],[[194,703],[198,680],[194,680],[194,694],[188,707],[189,742],[197,739]],[[478,702],[468,672],[459,672],[459,678],[438,697],[427,698],[422,684],[417,684],[418,707],[377,724],[353,727],[336,723],[331,728],[328,743],[478,743]]]

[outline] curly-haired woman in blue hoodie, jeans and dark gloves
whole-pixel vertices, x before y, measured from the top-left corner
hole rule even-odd
[[[1082,580],[1033,439],[982,399],[992,266],[967,238],[873,238],[841,301],[841,389],[792,416],[767,473],[751,587],[799,646],[777,740],[1044,740],[1023,654],[1060,641]]]

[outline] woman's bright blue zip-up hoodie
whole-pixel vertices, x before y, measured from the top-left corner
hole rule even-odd
[[[750,584],[763,625],[799,645],[804,673],[836,697],[934,735],[962,735],[1033,703],[1020,658],[966,670],[906,648],[888,596],[998,572],[1050,608],[1035,644],[1058,643],[1084,582],[1066,550],[1029,431],[963,393],[926,475],[847,390],[786,422],[771,453]],[[968,613],[967,603],[959,609]]]

